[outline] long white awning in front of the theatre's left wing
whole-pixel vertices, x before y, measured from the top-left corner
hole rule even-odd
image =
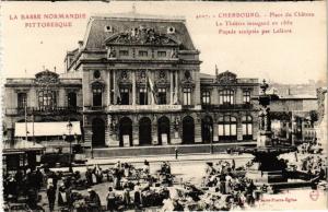
[[[72,129],[69,132],[68,121],[65,122],[27,122],[27,137],[56,137],[62,134],[81,136],[80,121],[71,121]],[[34,126],[34,127],[33,127]],[[34,133],[33,133],[34,131]],[[15,137],[26,137],[26,123],[15,122]]]

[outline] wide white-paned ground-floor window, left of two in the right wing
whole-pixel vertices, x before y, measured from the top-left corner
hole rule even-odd
[[[237,119],[233,116],[219,117],[219,140],[237,139]]]

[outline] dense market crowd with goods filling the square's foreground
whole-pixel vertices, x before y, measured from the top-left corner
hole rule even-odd
[[[313,152],[314,146],[318,143],[302,144],[297,152],[289,154],[291,158],[280,160],[289,169],[326,179],[327,157]],[[49,211],[139,211],[148,207],[163,211],[244,210],[255,205],[261,193],[273,192],[272,187],[256,187],[245,177],[250,166],[251,161],[239,167],[234,160],[209,162],[199,185],[176,180],[168,162],[152,173],[148,161],[138,168],[119,161],[109,168],[87,166],[85,174],[36,168],[5,173],[3,195],[5,201],[14,202],[25,197],[28,207],[37,209],[39,193],[44,192]],[[106,197],[97,185],[106,187]]]

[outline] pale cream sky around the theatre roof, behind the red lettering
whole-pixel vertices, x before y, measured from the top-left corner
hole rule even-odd
[[[94,14],[125,13],[132,5],[141,14],[178,15],[186,24],[194,45],[200,50],[201,72],[214,74],[230,70],[238,78],[259,78],[280,83],[306,83],[324,80],[327,74],[326,5],[315,2],[185,2],[113,1],[106,2],[2,2],[2,76],[33,76],[44,67],[63,72],[68,50],[78,47]],[[213,15],[258,12],[258,19],[219,19]],[[314,13],[314,16],[271,17],[270,13]],[[86,19],[70,20],[72,27],[25,27],[31,20],[13,20],[22,14],[85,13]],[[197,19],[198,15],[210,17]],[[270,35],[224,35],[216,22],[267,22],[290,20],[292,33]],[[45,21],[45,20],[44,20]],[[61,20],[67,21],[67,20]],[[223,26],[222,26],[223,27]],[[281,26],[276,26],[278,31]],[[227,26],[224,26],[226,30]],[[231,28],[231,27],[230,27]],[[241,27],[234,27],[238,30]],[[253,27],[248,27],[251,30]],[[263,26],[257,27],[261,32]],[[270,26],[272,31],[273,27]]]

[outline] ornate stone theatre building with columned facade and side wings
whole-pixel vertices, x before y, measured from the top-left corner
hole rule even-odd
[[[199,55],[184,19],[92,16],[84,39],[65,58],[66,73],[42,72],[57,79],[52,93],[40,97],[44,90],[36,89],[28,104],[56,114],[74,99],[74,113],[51,118],[80,121],[84,145],[93,149],[256,140],[257,79],[200,74]],[[7,81],[7,87],[19,87],[8,99],[13,111],[22,108],[15,101],[39,86],[38,78],[24,85]],[[20,118],[7,127],[13,130]]]

